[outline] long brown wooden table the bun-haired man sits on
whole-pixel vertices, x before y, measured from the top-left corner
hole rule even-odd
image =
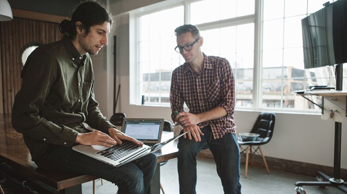
[[[163,132],[163,140],[173,137],[173,132]],[[166,145],[164,148],[156,152],[158,166],[152,179],[148,194],[160,194],[160,165],[163,162],[177,157],[177,140]],[[0,165],[0,170],[6,174],[19,176],[19,179],[40,181],[53,189],[59,194],[82,194],[82,183],[86,183],[99,177],[91,175],[49,172],[41,170],[31,160],[28,148],[24,144],[22,134],[16,132],[11,124],[11,118],[7,115],[0,114],[0,161],[6,165]],[[15,169],[15,170],[14,170]],[[20,176],[22,175],[22,176]],[[25,176],[23,176],[25,175]],[[30,176],[29,176],[30,175]],[[28,183],[31,183],[28,181]],[[34,190],[41,190],[41,187],[32,184]],[[37,191],[40,193],[40,191]],[[41,190],[41,193],[47,192]]]

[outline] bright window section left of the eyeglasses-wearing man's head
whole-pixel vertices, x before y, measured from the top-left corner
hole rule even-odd
[[[176,46],[173,30],[183,24],[183,8],[178,6],[138,19],[138,90],[147,104],[169,102],[172,70],[181,62],[173,50]],[[162,23],[162,18],[170,18],[170,22]]]

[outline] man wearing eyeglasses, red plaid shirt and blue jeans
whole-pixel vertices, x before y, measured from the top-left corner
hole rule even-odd
[[[178,142],[180,194],[196,194],[196,156],[209,148],[225,194],[240,194],[240,154],[234,122],[235,88],[227,59],[201,52],[204,39],[193,25],[175,29],[185,63],[173,71],[170,103],[173,121],[187,131]],[[184,112],[183,104],[189,112]],[[177,111],[178,114],[174,112]]]

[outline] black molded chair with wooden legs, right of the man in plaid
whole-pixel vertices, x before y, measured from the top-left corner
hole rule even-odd
[[[263,159],[266,170],[270,174],[268,164],[266,163],[265,156],[260,146],[270,142],[274,133],[275,119],[275,113],[260,113],[254,123],[252,130],[250,131],[250,133],[260,134],[258,140],[253,142],[242,142],[241,139],[238,139],[240,154],[243,154],[245,156],[244,178],[247,178],[248,162],[251,161],[253,155],[257,155]],[[252,149],[253,147],[256,147],[256,149]]]

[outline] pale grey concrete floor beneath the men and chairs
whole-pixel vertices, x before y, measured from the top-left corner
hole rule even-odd
[[[198,157],[198,183],[197,194],[223,194],[223,187],[216,172],[213,159]],[[270,168],[267,174],[265,167],[248,167],[247,178],[244,178],[244,165],[240,170],[242,194],[296,194],[294,183],[296,181],[316,181],[315,177],[307,177],[287,172],[275,171]],[[96,181],[96,194],[116,194],[117,187],[103,180],[103,185]],[[169,160],[161,166],[161,184],[165,194],[178,194],[177,159]],[[304,186],[306,194],[342,194],[334,187]],[[93,183],[82,184],[83,194],[93,194]]]

